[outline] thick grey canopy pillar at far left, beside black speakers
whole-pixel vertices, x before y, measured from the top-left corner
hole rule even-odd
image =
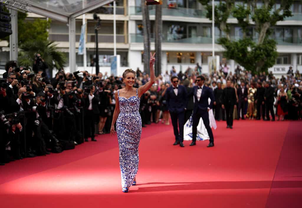
[[[11,12],[11,30],[9,36],[9,59],[18,60],[18,11],[10,9]]]

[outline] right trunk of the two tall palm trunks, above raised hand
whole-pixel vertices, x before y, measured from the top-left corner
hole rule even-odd
[[[155,75],[162,71],[162,5],[156,5],[155,10]]]

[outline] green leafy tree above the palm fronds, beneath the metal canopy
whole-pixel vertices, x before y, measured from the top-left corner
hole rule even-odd
[[[36,18],[31,21],[26,20],[26,18],[27,13],[18,12],[18,45],[33,39],[47,40],[51,20]],[[3,40],[9,42],[9,36]]]

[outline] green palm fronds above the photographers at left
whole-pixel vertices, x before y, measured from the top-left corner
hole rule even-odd
[[[37,53],[41,54],[44,62],[47,63],[50,72],[53,68],[61,69],[66,63],[66,55],[59,50],[57,44],[50,40],[29,40],[20,46],[18,54],[20,66],[33,66]]]

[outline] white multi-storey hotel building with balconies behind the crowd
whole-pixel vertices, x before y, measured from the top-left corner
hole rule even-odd
[[[139,67],[143,70],[142,52],[143,52],[143,36],[142,36],[142,14],[140,0],[117,0],[116,1],[116,46],[117,54],[120,55],[120,68],[118,75],[126,68],[134,70]],[[103,6],[95,10],[101,18],[101,28],[98,31],[98,47],[99,47],[99,65],[100,72],[108,72],[110,74],[109,56],[114,54],[114,28],[113,28],[113,4]],[[162,4],[162,73],[166,70],[170,71],[175,66],[177,71],[183,72],[188,66],[194,68],[196,63],[201,64],[203,73],[208,72],[207,57],[212,55],[212,24],[205,17],[206,11],[203,6],[196,0],[163,0]],[[278,7],[278,4],[276,5]],[[154,32],[155,24],[155,7],[149,6],[149,14],[151,20],[151,32]],[[286,18],[285,21],[278,22],[273,27],[273,38],[278,42],[277,51],[279,57],[276,59],[275,66],[269,70],[277,76],[286,74],[290,66],[302,72],[302,3],[294,2],[292,5],[293,16]],[[96,21],[93,20],[92,11],[85,15],[87,22],[86,31],[86,49],[87,63],[83,63],[83,55],[76,55],[76,65],[82,70],[84,64],[86,69],[91,72],[95,71],[95,67],[91,67],[91,61],[95,54],[95,33],[94,27]],[[43,16],[29,13],[28,21],[34,18],[45,18]],[[230,18],[228,22],[231,24],[232,38],[242,37],[240,28],[236,24],[236,19]],[[82,16],[76,18],[76,47],[79,46],[79,38],[82,26]],[[251,33],[256,36],[255,32]],[[218,29],[215,28],[215,34]],[[151,51],[155,50],[154,34],[151,35]],[[69,28],[66,23],[52,20],[49,30],[49,39],[58,43],[59,48],[69,52]],[[1,64],[3,65],[9,59],[7,50],[8,43],[0,42],[2,47]],[[220,62],[227,63],[230,71],[234,71],[237,64],[233,60],[223,58],[223,48],[215,45],[215,55],[220,56]],[[67,61],[66,65],[68,65]],[[66,71],[69,71],[66,66]]]

